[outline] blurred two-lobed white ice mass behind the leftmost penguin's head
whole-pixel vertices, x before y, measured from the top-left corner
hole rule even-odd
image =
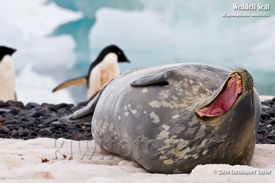
[[[46,0],[2,0],[0,6],[1,45],[16,48],[16,71],[30,63],[35,70],[50,73],[75,62],[75,42],[70,35],[49,37],[63,23],[78,20],[83,14],[60,8]]]

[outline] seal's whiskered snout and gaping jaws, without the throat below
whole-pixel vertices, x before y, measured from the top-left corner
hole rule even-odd
[[[247,70],[238,68],[193,114],[200,122],[221,124],[222,119],[253,112],[254,92],[252,76]]]

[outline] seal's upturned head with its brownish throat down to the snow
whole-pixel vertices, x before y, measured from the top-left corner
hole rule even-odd
[[[244,165],[251,161],[261,102],[247,70],[234,70],[193,114],[207,127],[207,138],[223,140],[220,146],[229,152],[224,163]]]

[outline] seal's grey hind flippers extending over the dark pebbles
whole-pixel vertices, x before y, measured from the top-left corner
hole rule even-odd
[[[110,80],[110,81],[112,81],[112,80]],[[97,105],[97,102],[98,102],[102,92],[104,91],[104,89],[106,88],[106,86],[109,84],[110,81],[108,81],[106,84],[104,84],[101,87],[101,89],[99,90],[97,95],[94,97],[93,100],[91,100],[87,104],[87,106],[75,111],[71,115],[67,115],[67,116],[58,118],[58,121],[60,123],[67,124],[67,125],[75,125],[75,124],[80,124],[80,123],[91,122],[93,119],[94,109]]]

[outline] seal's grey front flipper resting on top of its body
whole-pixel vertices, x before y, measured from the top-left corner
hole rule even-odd
[[[174,76],[177,76],[183,72],[182,70],[178,69],[169,69],[160,74],[151,74],[148,76],[143,76],[138,78],[137,80],[130,83],[131,86],[148,86],[153,84],[169,84],[171,79]]]

